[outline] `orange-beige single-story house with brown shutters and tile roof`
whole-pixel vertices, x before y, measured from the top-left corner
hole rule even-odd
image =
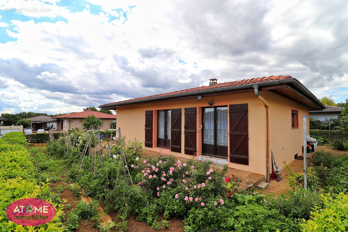
[[[325,106],[291,76],[270,76],[139,97],[99,106],[117,110],[117,126],[146,149],[213,157],[229,167],[271,171],[302,153],[303,116]],[[309,126],[307,126],[307,134]]]

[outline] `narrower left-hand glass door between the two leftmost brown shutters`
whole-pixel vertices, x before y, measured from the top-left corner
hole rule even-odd
[[[157,114],[157,146],[171,147],[171,111],[159,110]]]

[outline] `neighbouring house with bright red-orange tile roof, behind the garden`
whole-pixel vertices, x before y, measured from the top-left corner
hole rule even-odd
[[[65,114],[52,118],[57,119],[57,130],[68,131],[77,127],[82,129],[82,122],[88,117],[88,115],[94,115],[96,118],[100,118],[104,122],[103,126],[100,128],[101,130],[108,130],[110,122],[116,120],[116,115],[93,111],[90,110],[90,108],[87,110],[84,109],[82,112]]]

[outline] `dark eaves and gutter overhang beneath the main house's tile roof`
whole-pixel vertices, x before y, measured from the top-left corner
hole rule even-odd
[[[137,99],[134,101],[127,101],[127,102],[119,102],[119,103],[116,102],[109,105],[100,105],[99,108],[108,109],[108,110],[116,110],[117,107],[119,106],[176,101],[176,100],[196,98],[197,96],[210,97],[210,96],[216,96],[216,95],[254,92],[254,87],[253,87],[254,85],[255,84],[231,86],[231,87],[224,87],[224,88],[195,91],[190,93],[181,93],[181,94],[159,96],[159,97],[153,97],[153,98]],[[278,95],[284,96],[304,106],[309,107],[309,110],[325,109],[325,106],[323,105],[323,103],[321,103],[314,94],[312,94],[306,87],[302,85],[300,81],[298,81],[295,78],[263,82],[263,83],[258,83],[257,85],[259,86],[259,91],[270,90]]]

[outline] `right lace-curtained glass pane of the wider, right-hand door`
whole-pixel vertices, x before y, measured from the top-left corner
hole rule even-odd
[[[216,108],[216,144],[227,146],[227,107]]]

